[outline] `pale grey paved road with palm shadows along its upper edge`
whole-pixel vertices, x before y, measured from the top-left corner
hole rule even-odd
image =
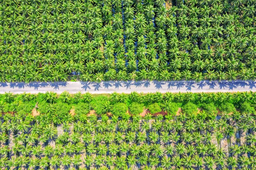
[[[90,92],[99,93],[130,93],[137,92],[237,92],[237,91],[256,91],[255,81],[234,81],[234,82],[157,82],[157,81],[141,81],[141,82],[54,82],[54,83],[0,83],[0,93],[45,93],[46,91],[54,91],[62,93]]]

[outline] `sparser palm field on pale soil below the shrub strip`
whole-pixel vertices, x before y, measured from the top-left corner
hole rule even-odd
[[[100,119],[100,118],[99,118]],[[6,114],[0,123],[2,169],[253,170],[255,116],[204,113],[177,117],[97,119],[54,124]]]

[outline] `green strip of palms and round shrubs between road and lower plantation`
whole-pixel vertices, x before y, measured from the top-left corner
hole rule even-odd
[[[150,114],[176,116],[180,113],[189,115],[206,113],[217,116],[221,113],[255,113],[255,92],[238,93],[112,93],[92,95],[81,92],[70,94],[66,91],[57,95],[54,92],[29,94],[0,94],[1,113],[50,114],[51,119],[72,115],[94,114],[117,117]]]

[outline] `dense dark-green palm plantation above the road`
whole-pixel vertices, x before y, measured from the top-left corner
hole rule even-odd
[[[255,0],[1,0],[0,82],[255,79]]]

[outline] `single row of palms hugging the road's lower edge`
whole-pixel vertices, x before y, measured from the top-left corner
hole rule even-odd
[[[39,99],[43,97],[46,102],[56,103],[57,101],[66,102],[66,103],[79,103],[85,102],[90,103],[92,99],[95,97],[89,92],[82,94],[81,92],[70,94],[67,91],[61,93],[61,95],[57,95],[55,92],[39,93],[39,94],[30,94],[30,93],[22,93],[20,95],[14,95],[11,92],[6,92],[3,95],[0,95],[2,98],[2,103],[11,103],[13,101],[19,100],[21,102],[29,102],[34,99]],[[256,93],[253,91],[245,91],[245,92],[217,92],[217,93],[138,93],[136,91],[131,92],[130,94],[125,93],[117,93],[113,92],[109,95],[108,99],[113,104],[117,102],[125,103],[128,99],[132,102],[139,103],[154,103],[154,102],[254,102],[256,100]],[[40,99],[39,99],[40,100]]]

